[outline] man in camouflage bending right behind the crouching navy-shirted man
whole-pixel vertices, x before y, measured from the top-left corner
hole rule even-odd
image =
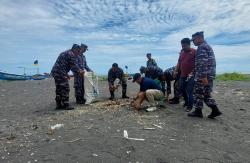
[[[163,94],[165,94],[165,82],[162,80],[163,70],[161,68],[157,66],[141,66],[140,73],[145,74],[146,78],[155,80],[155,82],[161,87]]]

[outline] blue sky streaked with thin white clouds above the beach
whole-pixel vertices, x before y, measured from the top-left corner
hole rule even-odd
[[[250,73],[249,14],[249,0],[0,0],[0,71],[34,74],[38,60],[40,73],[50,72],[74,43],[89,46],[97,74],[114,62],[138,72],[149,52],[165,70],[180,40],[204,31],[217,73]]]

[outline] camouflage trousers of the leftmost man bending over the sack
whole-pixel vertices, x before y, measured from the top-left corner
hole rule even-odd
[[[54,77],[56,85],[56,102],[69,103],[69,82],[62,77]]]

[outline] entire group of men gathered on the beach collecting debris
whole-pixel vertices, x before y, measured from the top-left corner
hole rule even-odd
[[[191,48],[191,42],[197,49]],[[133,99],[135,109],[141,109],[144,100],[149,102],[148,111],[157,109],[158,102],[167,99],[170,104],[179,104],[181,97],[184,98],[184,107],[187,112],[193,108],[194,111],[188,113],[190,117],[203,117],[203,102],[212,109],[208,118],[215,118],[222,113],[217,107],[215,100],[211,96],[213,80],[216,74],[216,61],[213,49],[204,39],[203,32],[196,32],[192,39],[183,38],[181,40],[182,49],[176,66],[163,71],[152,58],[151,53],[146,56],[148,61],[146,66],[140,67],[140,73],[133,76],[133,82],[140,85],[140,91]],[[74,87],[76,103],[84,104],[84,72],[92,71],[86,62],[84,53],[88,50],[85,44],[74,44],[70,50],[59,55],[51,71],[56,84],[56,109],[73,109],[69,106],[69,84],[68,72],[74,74]],[[119,79],[119,84],[115,80]],[[171,94],[171,82],[174,82],[174,97],[169,99]],[[108,83],[110,100],[113,100],[114,91],[118,86],[122,86],[122,98],[129,98],[126,94],[127,80],[125,74],[113,63],[108,71]]]

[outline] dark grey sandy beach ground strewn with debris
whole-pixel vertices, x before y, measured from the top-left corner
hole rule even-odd
[[[181,104],[137,112],[110,103],[107,87],[98,103],[55,111],[53,80],[0,81],[0,162],[250,162],[250,82],[215,83],[217,120],[187,117]],[[129,83],[129,96],[137,90]]]

